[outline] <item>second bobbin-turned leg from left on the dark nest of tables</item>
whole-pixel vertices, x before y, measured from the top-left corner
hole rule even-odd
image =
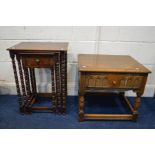
[[[26,104],[26,90],[25,90],[25,81],[23,77],[23,69],[22,69],[22,64],[21,64],[21,57],[17,55],[17,62],[18,62],[18,67],[19,67],[19,75],[21,79],[21,87],[22,87],[22,95],[23,95],[23,108],[22,111],[25,112],[25,104]]]

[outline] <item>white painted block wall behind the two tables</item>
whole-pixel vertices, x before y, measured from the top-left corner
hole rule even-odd
[[[125,26],[1,26],[0,27],[0,94],[16,94],[11,59],[6,49],[22,41],[69,42],[68,95],[77,95],[77,55],[79,53],[131,55],[148,67],[144,96],[155,90],[155,27]],[[37,70],[38,86],[50,90],[49,71]],[[47,73],[47,74],[45,74]],[[128,92],[127,95],[134,95]]]

